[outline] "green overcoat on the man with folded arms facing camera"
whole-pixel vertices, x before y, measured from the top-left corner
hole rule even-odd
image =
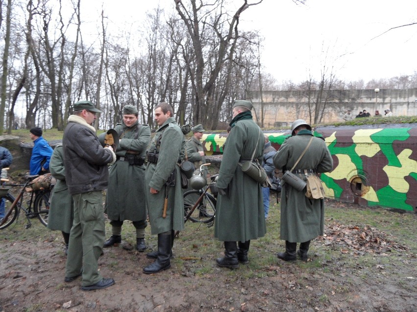
[[[140,125],[139,121],[130,127],[122,122],[115,126],[115,130],[120,141],[116,150],[117,161],[109,169],[105,212],[110,220],[146,220],[144,199],[149,189],[145,186],[145,165],[129,165],[120,157],[135,155],[144,159],[151,130],[148,125]]]

